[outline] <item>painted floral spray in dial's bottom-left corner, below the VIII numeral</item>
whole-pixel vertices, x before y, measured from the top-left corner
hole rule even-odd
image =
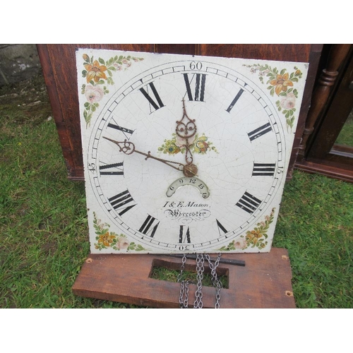
[[[116,251],[145,251],[146,249],[139,244],[135,244],[133,241],[128,241],[126,235],[116,234],[109,232],[107,223],[102,223],[101,220],[97,220],[95,213],[93,213],[93,227],[95,227],[95,234],[97,234],[95,249],[102,250],[112,248]]]

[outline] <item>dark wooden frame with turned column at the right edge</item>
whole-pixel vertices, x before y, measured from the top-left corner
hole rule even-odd
[[[323,66],[318,78],[301,155],[294,166],[305,172],[353,182],[353,147],[335,144],[353,109],[353,91],[349,90],[353,80],[353,46],[333,44],[330,56],[323,61],[327,68]]]

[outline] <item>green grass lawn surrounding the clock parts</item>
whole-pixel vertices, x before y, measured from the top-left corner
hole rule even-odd
[[[89,253],[85,191],[51,114],[41,77],[0,89],[0,307],[135,307],[71,291]],[[298,308],[353,307],[353,184],[295,171],[273,245],[289,251]]]

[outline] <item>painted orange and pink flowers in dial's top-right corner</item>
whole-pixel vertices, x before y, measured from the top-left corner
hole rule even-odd
[[[251,73],[258,72],[261,83],[268,85],[270,95],[280,97],[280,100],[276,101],[277,109],[285,115],[287,130],[292,130],[295,121],[295,103],[298,98],[298,91],[294,88],[294,84],[299,82],[303,73],[297,66],[294,66],[292,73],[286,72],[286,68],[278,72],[277,68],[271,68],[267,64],[246,65],[246,67],[251,68]],[[268,78],[266,82],[265,77]]]

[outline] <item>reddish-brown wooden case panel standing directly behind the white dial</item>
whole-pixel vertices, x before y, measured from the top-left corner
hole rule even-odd
[[[83,180],[75,52],[77,48],[84,47],[133,52],[309,62],[309,74],[287,179],[292,177],[294,162],[297,159],[305,119],[310,106],[322,44],[37,44],[61,148],[66,161],[68,178],[73,180]]]

